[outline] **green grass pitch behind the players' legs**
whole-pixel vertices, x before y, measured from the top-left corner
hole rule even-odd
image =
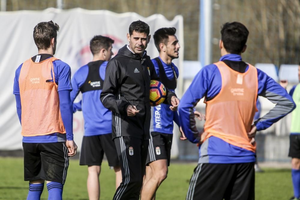
[[[23,159],[0,157],[0,199],[26,199],[28,182],[23,181]],[[157,200],[185,199],[190,177],[196,163],[171,163],[168,178],[157,192]],[[264,169],[256,174],[256,200],[284,200],[292,196],[290,169]],[[88,199],[86,190],[87,167],[78,160],[70,160],[63,199]],[[102,164],[101,199],[110,200],[115,190],[114,172],[107,162]],[[45,184],[41,199],[47,199]]]

